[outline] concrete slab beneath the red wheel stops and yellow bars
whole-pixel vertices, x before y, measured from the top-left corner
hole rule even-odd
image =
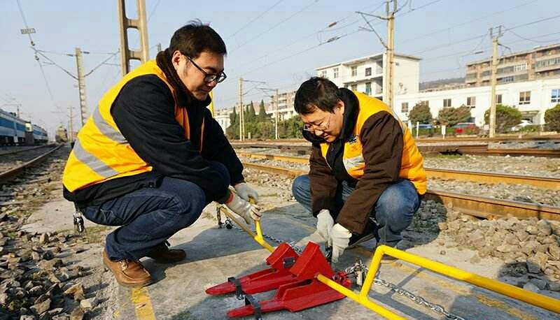
[[[207,208],[207,212],[214,212],[214,210]],[[286,212],[290,212],[290,214],[286,214]],[[307,243],[308,240],[318,242],[320,238],[316,233],[313,233],[314,228],[311,224],[313,219],[297,218],[303,213],[302,209],[296,205],[270,209],[264,214],[263,231],[284,240],[299,243]],[[237,277],[267,268],[264,261],[269,253],[265,249],[260,249],[242,231],[218,229],[216,221],[210,214],[205,214],[193,226],[174,235],[171,243],[174,247],[186,250],[188,254],[186,261],[167,266],[155,263],[151,259],[144,260],[144,265],[148,270],[151,270],[156,282],[148,286],[142,296],[150,297],[150,307],[155,314],[155,319],[226,319],[225,314],[228,310],[240,307],[243,305],[243,301],[237,300],[234,295],[207,296],[204,290],[209,286],[225,282],[227,277]],[[365,247],[350,250],[339,265],[350,266],[356,258],[369,263],[373,246],[374,241],[366,242]],[[434,250],[432,248],[427,252],[430,256],[435,256]],[[422,247],[416,247],[411,251],[423,254]],[[442,259],[442,262],[457,266],[457,256],[454,256],[454,254],[444,256],[445,259]],[[465,253],[465,256],[470,258],[472,254]],[[458,264],[463,268],[471,272],[475,271],[469,268],[472,267],[472,264],[464,263],[464,259],[459,260]],[[477,271],[482,271],[484,268],[491,270],[480,273],[491,276],[493,272],[495,273],[499,269],[499,266],[495,268],[479,266]],[[408,263],[385,265],[381,268],[380,277],[398,286],[403,286],[408,291],[430,302],[442,305],[445,310],[458,314],[465,319],[536,320],[554,319],[557,316],[484,289],[477,289],[468,284],[434,275]],[[134,319],[134,317],[150,319],[139,317],[139,314],[141,314],[139,311],[148,307],[146,303],[141,305],[130,303],[131,296],[134,297],[137,294],[138,292],[134,290],[118,289],[117,305],[120,305],[117,312],[119,314],[118,319]],[[268,292],[254,296],[258,300],[264,300],[272,297],[273,294],[274,292]],[[442,314],[416,305],[409,298],[388,291],[384,286],[373,286],[370,298],[390,310],[398,312],[407,319],[443,318]],[[135,299],[138,300],[136,297],[132,298],[132,300]],[[252,318],[247,317],[246,319]],[[272,312],[267,314],[265,319],[342,320],[383,318],[350,299],[344,299],[297,313]]]

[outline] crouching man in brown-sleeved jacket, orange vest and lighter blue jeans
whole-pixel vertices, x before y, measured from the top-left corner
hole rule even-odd
[[[293,196],[317,218],[332,261],[374,237],[396,247],[426,193],[410,131],[382,101],[325,78],[303,82],[294,104],[313,152]]]

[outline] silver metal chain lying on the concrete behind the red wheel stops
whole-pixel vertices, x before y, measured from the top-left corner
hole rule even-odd
[[[218,210],[218,226],[221,228],[221,215],[219,214],[220,210]],[[235,226],[235,224],[230,220],[230,218],[226,217],[225,218],[225,228],[228,229],[232,229],[234,228],[237,231],[242,231],[245,232],[243,229],[239,228],[238,226]],[[294,241],[291,242],[287,242],[287,241],[282,241],[280,239],[274,238],[271,235],[266,235],[265,233],[262,233],[262,237],[263,238],[267,238],[268,240],[275,242],[276,244],[281,244],[283,242],[288,243],[288,245],[290,245],[290,247],[292,247],[295,252],[297,252],[297,254],[302,254],[302,249],[300,247],[297,247],[295,245]],[[363,284],[363,280],[365,279],[365,275],[367,275],[367,272],[369,272],[369,268],[367,268],[367,266],[365,266],[365,264],[361,261],[361,259],[356,259],[356,262],[353,264],[353,266],[350,266],[346,269],[344,269],[344,273],[348,276],[348,275],[353,275],[353,277],[355,277],[356,279],[356,284],[358,286],[362,286]],[[428,300],[422,298],[421,296],[416,296],[414,293],[407,291],[405,289],[400,288],[399,286],[391,283],[391,282],[387,282],[384,279],[379,279],[379,270],[377,270],[377,275],[375,275],[375,278],[373,280],[374,284],[377,284],[378,286],[385,286],[386,288],[388,288],[389,290],[398,293],[398,295],[400,296],[405,296],[407,298],[409,298],[410,300],[414,301],[414,303],[417,303],[418,305],[423,305],[425,307],[430,308],[430,310],[433,310],[434,312],[440,313],[442,315],[444,315],[445,319],[448,320],[466,320],[463,317],[459,317],[456,314],[452,314],[451,312],[447,312],[445,310],[444,307],[442,307],[441,305],[437,305],[435,303],[430,303]]]

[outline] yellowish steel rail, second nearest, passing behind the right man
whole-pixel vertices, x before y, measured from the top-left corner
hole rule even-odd
[[[250,152],[237,152],[239,156],[253,159],[277,160],[290,163],[309,163],[308,158],[279,156],[275,154],[260,154]],[[485,173],[475,171],[424,168],[428,177],[447,180],[461,180],[484,183],[523,184],[538,187],[539,189],[560,190],[560,179],[554,177],[535,177],[531,175],[510,175],[506,173]]]

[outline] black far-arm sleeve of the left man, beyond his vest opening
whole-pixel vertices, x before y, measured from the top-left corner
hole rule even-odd
[[[230,141],[225,137],[222,127],[212,117],[209,110],[206,110],[204,114],[202,156],[205,159],[223,163],[225,168],[228,168],[232,185],[244,180],[243,165],[230,145]]]

